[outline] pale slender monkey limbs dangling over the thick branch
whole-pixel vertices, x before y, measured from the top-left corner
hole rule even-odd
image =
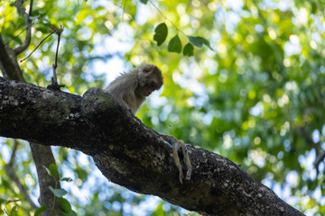
[[[168,142],[172,145],[172,157],[174,159],[175,165],[179,169],[180,172],[180,182],[182,184],[182,179],[183,179],[183,173],[182,173],[182,167],[181,167],[181,161],[179,157],[179,150],[181,148],[182,155],[183,155],[183,161],[187,167],[187,173],[186,173],[186,180],[190,180],[190,175],[192,172],[192,166],[190,164],[190,157],[188,150],[185,146],[185,143],[183,140],[175,139],[172,136],[169,135],[163,135],[168,139]]]

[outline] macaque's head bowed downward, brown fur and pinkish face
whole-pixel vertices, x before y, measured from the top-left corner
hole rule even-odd
[[[138,93],[146,97],[163,85],[162,71],[155,65],[144,64],[136,69],[138,77]]]

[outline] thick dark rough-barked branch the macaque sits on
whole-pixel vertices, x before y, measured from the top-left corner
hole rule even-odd
[[[0,77],[0,136],[78,149],[108,180],[190,211],[303,215],[228,158],[190,145],[192,177],[180,184],[164,137],[99,88],[81,97]]]

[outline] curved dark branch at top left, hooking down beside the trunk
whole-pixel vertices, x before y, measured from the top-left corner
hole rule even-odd
[[[16,1],[14,5],[17,7],[18,11],[23,14],[23,18],[26,23],[26,38],[21,46],[14,49],[14,54],[17,56],[18,54],[22,53],[25,49],[27,49],[28,46],[31,44],[32,20],[30,19],[30,17],[32,16],[32,0],[30,4],[29,14],[26,14],[26,10],[23,7],[23,0]]]

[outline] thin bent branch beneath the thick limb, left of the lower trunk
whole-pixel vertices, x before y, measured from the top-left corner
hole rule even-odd
[[[10,157],[10,161],[8,164],[5,165],[5,172],[6,174],[13,180],[13,182],[15,184],[17,184],[17,187],[19,188],[19,191],[21,193],[23,193],[23,197],[24,199],[30,203],[30,205],[32,206],[33,210],[37,209],[37,206],[34,202],[32,202],[31,197],[29,196],[27,189],[25,188],[25,186],[19,181],[19,178],[17,177],[17,175],[15,175],[14,173],[14,158],[15,158],[15,153],[17,150],[17,146],[18,146],[18,141],[16,139],[14,139],[14,148],[13,148],[13,153],[12,156]]]

